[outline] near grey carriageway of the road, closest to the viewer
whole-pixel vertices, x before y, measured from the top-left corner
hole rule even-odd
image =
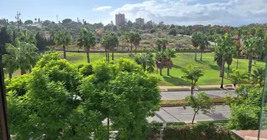
[[[203,114],[201,111],[195,116],[195,121],[204,120],[227,120],[230,117],[229,106],[215,106],[213,113]],[[155,112],[155,116],[148,118],[149,122],[153,120],[161,123],[190,122],[194,116],[194,111],[189,106],[183,107],[162,107]]]

